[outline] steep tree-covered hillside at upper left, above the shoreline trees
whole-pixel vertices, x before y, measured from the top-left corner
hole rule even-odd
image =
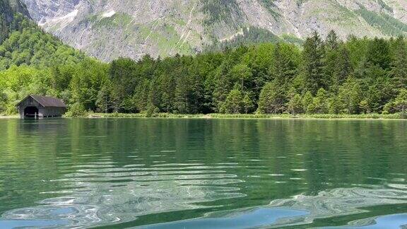
[[[20,0],[0,0],[0,71],[11,66],[76,64],[85,54],[45,33]]]

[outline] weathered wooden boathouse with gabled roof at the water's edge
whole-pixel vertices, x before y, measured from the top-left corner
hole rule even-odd
[[[61,100],[40,95],[28,95],[17,108],[22,119],[61,117],[66,112],[66,105]]]

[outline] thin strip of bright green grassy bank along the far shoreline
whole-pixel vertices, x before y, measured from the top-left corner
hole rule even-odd
[[[401,119],[401,114],[122,114],[94,113],[89,118],[190,118],[190,119]]]

